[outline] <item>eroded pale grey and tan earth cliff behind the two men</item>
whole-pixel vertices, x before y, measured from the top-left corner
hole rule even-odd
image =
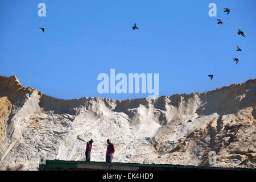
[[[0,76],[0,168],[38,169],[47,159],[214,167],[256,167],[256,79],[205,93],[118,101],[100,97],[61,100]]]

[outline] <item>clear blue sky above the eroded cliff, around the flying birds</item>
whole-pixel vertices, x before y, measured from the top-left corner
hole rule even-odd
[[[38,16],[40,2],[46,17]],[[208,15],[211,2],[217,17]],[[256,77],[256,1],[1,0],[0,12],[0,75],[15,75],[23,86],[56,98],[147,97],[99,94],[97,76],[110,75],[110,68],[159,73],[159,96]],[[132,29],[134,22],[139,30]],[[44,34],[38,27],[46,28]]]

